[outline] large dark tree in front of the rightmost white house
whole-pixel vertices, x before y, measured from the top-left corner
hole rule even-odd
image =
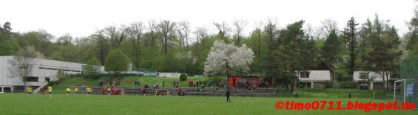
[[[389,75],[396,75],[394,73],[398,71],[399,62],[401,62],[402,52],[399,50],[401,41],[396,33],[396,28],[382,23],[378,15],[373,23],[367,23],[367,25],[372,27],[371,29],[364,28],[371,30],[369,35],[364,36],[369,43],[370,51],[366,52],[367,56],[364,57],[363,69],[380,74],[386,93],[389,90]]]

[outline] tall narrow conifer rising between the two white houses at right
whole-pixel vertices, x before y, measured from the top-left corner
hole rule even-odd
[[[356,26],[359,25],[355,22],[354,17],[351,17],[350,20],[347,21],[347,26],[343,30],[343,39],[345,39],[346,44],[348,46],[348,50],[350,50],[349,59],[348,59],[348,74],[353,75],[353,72],[356,68],[356,60],[357,60],[357,28]]]

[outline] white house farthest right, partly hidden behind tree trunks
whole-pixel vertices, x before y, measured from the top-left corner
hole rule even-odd
[[[390,75],[388,77],[390,79]],[[354,71],[353,80],[359,89],[385,89],[380,73],[372,71]]]

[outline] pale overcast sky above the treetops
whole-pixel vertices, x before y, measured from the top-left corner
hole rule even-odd
[[[85,37],[106,26],[119,26],[134,21],[187,20],[191,28],[205,26],[217,33],[213,22],[233,19],[248,21],[245,35],[256,27],[256,21],[277,19],[280,28],[301,19],[306,25],[321,26],[320,21],[333,19],[339,29],[350,17],[360,24],[373,19],[389,20],[403,35],[406,22],[414,15],[415,0],[1,0],[1,25],[9,21],[14,32],[47,30],[55,37],[69,33]]]

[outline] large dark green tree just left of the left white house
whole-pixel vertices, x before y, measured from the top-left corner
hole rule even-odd
[[[316,65],[316,56],[309,52],[314,51],[314,42],[304,38],[302,25],[304,21],[297,21],[279,31],[278,39],[270,43],[267,64],[267,80],[273,85],[284,85],[291,87],[291,92],[297,82],[297,71],[304,71],[311,65]],[[313,52],[310,51],[310,52]],[[311,58],[312,57],[312,58]],[[309,64],[304,64],[309,62]]]

